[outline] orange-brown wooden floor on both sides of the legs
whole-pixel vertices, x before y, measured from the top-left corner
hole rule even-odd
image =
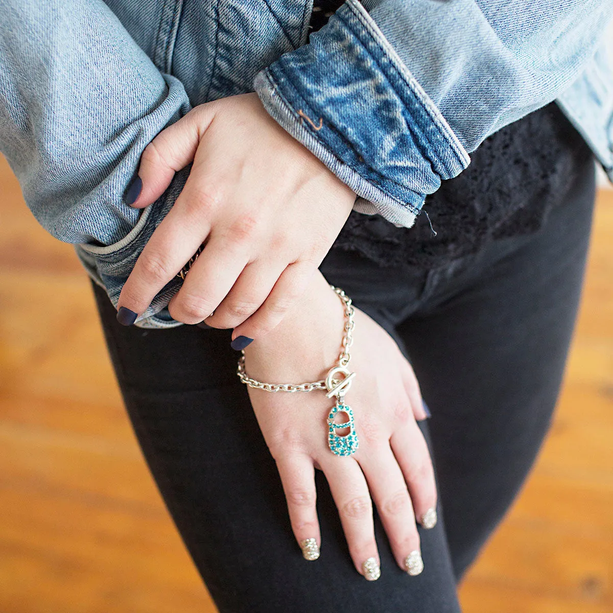
[[[612,509],[613,191],[603,191],[555,422],[460,589],[463,611],[613,612]],[[1,156],[0,518],[1,613],[216,611],[132,434],[85,272],[37,224]]]

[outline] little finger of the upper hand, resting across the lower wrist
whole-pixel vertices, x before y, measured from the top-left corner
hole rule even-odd
[[[232,340],[240,336],[261,338],[270,332],[304,294],[316,270],[317,266],[307,260],[288,264],[261,307],[234,328]]]

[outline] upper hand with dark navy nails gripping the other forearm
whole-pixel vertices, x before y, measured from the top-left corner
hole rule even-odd
[[[233,339],[262,337],[302,295],[356,194],[268,115],[256,93],[201,104],[160,132],[143,151],[132,206],[150,205],[192,161],[118,308],[145,311],[205,242],[170,314],[234,328]]]

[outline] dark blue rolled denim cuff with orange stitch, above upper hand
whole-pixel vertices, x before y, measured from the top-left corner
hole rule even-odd
[[[470,157],[358,0],[257,72],[268,113],[357,194],[354,210],[411,227]]]

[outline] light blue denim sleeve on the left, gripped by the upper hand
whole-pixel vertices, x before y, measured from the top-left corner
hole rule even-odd
[[[147,144],[191,109],[188,96],[104,2],[0,0],[0,15],[0,151],[36,219],[75,244],[116,306],[189,171],[144,210],[124,204],[123,194]],[[142,327],[180,325],[160,312],[179,286],[164,287],[139,317]]]

